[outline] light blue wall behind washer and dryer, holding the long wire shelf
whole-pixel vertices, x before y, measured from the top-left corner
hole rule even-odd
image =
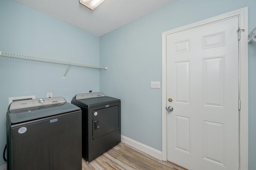
[[[0,1],[0,51],[99,65],[99,37],[12,0]],[[0,153],[6,144],[8,97],[64,97],[99,91],[99,70],[0,57]],[[4,160],[1,156],[0,164]]]

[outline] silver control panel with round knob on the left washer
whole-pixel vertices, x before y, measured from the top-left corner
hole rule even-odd
[[[10,104],[9,110],[52,105],[52,104],[58,104],[58,103],[66,103],[66,100],[63,97],[50,97],[50,98],[42,98],[42,99],[14,101],[13,103]]]

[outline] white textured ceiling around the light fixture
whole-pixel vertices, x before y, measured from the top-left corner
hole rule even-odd
[[[93,11],[79,4],[79,0],[14,1],[102,36],[176,0],[104,0]]]

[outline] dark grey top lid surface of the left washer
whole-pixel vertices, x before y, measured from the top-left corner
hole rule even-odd
[[[38,101],[38,99],[33,99],[33,100]],[[26,102],[28,102],[28,100]],[[80,110],[79,107],[72,105],[71,103],[66,103],[66,101],[62,103],[58,103],[58,102],[51,103],[51,104],[48,103],[46,105],[37,105],[35,107],[24,107],[24,108],[10,110],[11,105],[9,106],[9,110],[7,112],[8,117],[10,118],[11,124],[17,124],[17,123],[22,123],[26,121],[42,119],[42,118],[51,117],[54,115],[60,115],[60,114],[70,113],[73,111]]]

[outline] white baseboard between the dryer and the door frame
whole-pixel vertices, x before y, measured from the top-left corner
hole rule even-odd
[[[124,142],[125,144],[128,144],[146,154],[149,154],[150,156],[162,160],[162,152],[160,152],[159,150],[156,150],[154,148],[151,148],[145,144],[142,144],[140,142],[137,142],[135,140],[132,140],[126,136],[121,135],[121,142]]]

